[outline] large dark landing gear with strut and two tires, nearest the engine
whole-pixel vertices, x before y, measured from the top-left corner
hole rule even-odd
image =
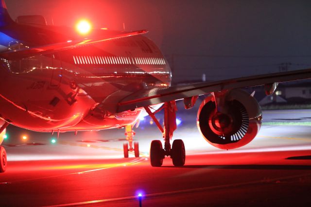
[[[162,166],[163,159],[165,156],[171,156],[174,166],[183,166],[186,160],[185,145],[183,140],[175,139],[171,147],[170,141],[173,137],[173,132],[177,128],[176,125],[176,102],[171,101],[164,104],[164,128],[155,118],[155,113],[160,111],[151,112],[149,107],[145,107],[145,110],[149,116],[155,121],[155,124],[163,133],[164,138],[164,149],[160,140],[153,140],[150,146],[150,162],[153,167]]]

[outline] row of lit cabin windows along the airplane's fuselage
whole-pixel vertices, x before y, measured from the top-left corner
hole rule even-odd
[[[157,57],[107,57],[73,56],[76,65],[165,65],[164,58]]]

